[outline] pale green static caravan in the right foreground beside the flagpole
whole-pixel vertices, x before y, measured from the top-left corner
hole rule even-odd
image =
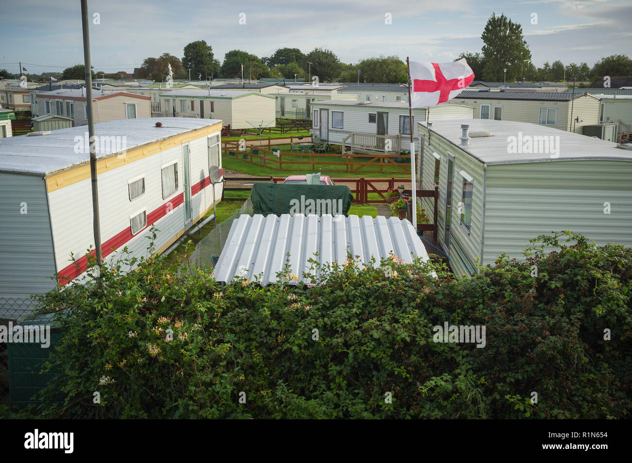
[[[537,124],[482,119],[418,123],[417,188],[439,185],[439,246],[453,272],[565,229],[632,246],[632,150]],[[432,217],[434,202],[420,204]]]

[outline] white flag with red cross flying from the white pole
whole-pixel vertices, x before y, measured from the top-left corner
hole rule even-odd
[[[436,106],[451,100],[474,80],[465,58],[452,63],[410,61],[411,107]]]

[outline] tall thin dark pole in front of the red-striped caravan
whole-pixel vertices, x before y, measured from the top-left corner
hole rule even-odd
[[[90,136],[90,178],[92,179],[92,217],[94,248],[99,266],[98,280],[101,281],[101,229],[99,217],[99,188],[97,186],[97,152],[94,138],[94,119],[92,117],[92,66],[90,66],[90,34],[88,33],[88,0],[81,0],[81,18],[83,27],[83,63],[85,65],[85,102],[88,110],[88,136]]]

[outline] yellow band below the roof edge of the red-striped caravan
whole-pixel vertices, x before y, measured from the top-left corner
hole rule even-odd
[[[176,147],[178,145],[181,145],[182,143],[186,143],[187,141],[197,140],[198,138],[210,135],[211,133],[219,132],[221,131],[221,129],[222,124],[217,123],[209,127],[204,127],[189,133],[184,133],[183,135],[176,135],[171,138],[167,138],[167,140],[157,141],[145,147],[130,150],[125,155],[119,156],[114,154],[107,159],[99,159],[97,160],[97,174],[111,171],[112,169],[121,167],[121,165],[130,164],[131,162],[143,159],[143,157],[145,156],[150,156],[169,148]],[[51,176],[46,177],[46,186],[48,188],[48,192],[51,193],[51,191],[55,191],[56,189],[61,189],[64,188],[64,186],[69,186],[71,184],[78,183],[89,178],[90,161],[87,160],[85,164],[79,165],[78,167],[72,167],[71,169],[68,169],[66,171],[52,174]]]

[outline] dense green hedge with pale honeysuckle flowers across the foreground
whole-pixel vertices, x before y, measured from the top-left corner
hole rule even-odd
[[[349,256],[305,287],[221,286],[161,258],[104,269],[102,289],[42,298],[69,315],[51,356],[64,374],[43,395],[68,397],[30,416],[628,417],[632,250],[570,232],[532,244],[471,278],[396,256],[367,270]],[[444,322],[485,325],[485,347],[434,342]]]

